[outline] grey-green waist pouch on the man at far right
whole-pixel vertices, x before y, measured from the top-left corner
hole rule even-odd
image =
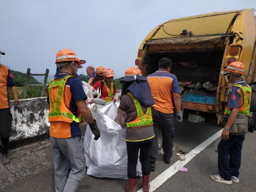
[[[230,114],[223,115],[222,124],[225,126],[228,122]],[[233,125],[230,127],[231,135],[245,135],[248,129],[248,119],[245,114],[237,114],[237,118],[235,119]]]

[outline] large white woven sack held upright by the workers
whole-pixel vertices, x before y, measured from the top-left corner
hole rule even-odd
[[[101,131],[95,141],[87,125],[84,135],[85,162],[87,175],[100,178],[127,179],[126,129],[114,122],[119,103],[109,102],[105,106],[89,105],[93,118]],[[141,175],[138,160],[137,175]]]

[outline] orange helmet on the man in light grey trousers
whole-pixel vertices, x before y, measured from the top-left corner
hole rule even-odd
[[[81,64],[84,64],[85,60],[79,60],[75,52],[73,52],[70,49],[61,49],[56,54],[56,64],[59,64],[60,62],[65,61],[77,61],[78,62],[78,68],[82,68]]]

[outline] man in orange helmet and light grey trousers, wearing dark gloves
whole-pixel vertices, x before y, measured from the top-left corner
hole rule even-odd
[[[50,80],[47,103],[49,109],[50,139],[53,150],[56,192],[76,191],[85,175],[83,138],[79,123],[89,124],[94,140],[100,137],[85,100],[87,96],[81,81],[75,77],[84,60],[79,60],[70,49],[61,49],[56,55],[59,74]],[[71,171],[68,176],[68,165]]]

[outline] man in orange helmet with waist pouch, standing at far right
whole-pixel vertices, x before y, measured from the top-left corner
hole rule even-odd
[[[241,76],[245,66],[239,61],[232,62],[221,74],[230,86],[228,104],[224,111],[221,140],[218,144],[218,175],[210,175],[213,181],[225,184],[239,183],[242,145],[248,128],[252,89]]]

